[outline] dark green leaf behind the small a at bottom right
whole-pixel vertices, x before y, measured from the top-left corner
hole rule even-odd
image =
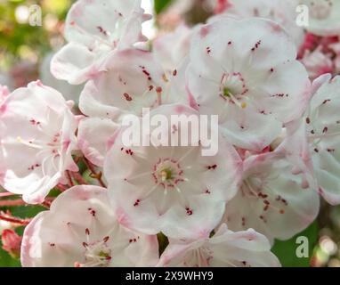
[[[309,245],[309,257],[299,258],[296,256],[296,248],[300,244],[296,243],[298,237],[306,237]],[[279,257],[283,267],[310,267],[313,248],[318,241],[318,224],[314,222],[304,232],[296,234],[294,238],[286,241],[276,240],[271,251]]]

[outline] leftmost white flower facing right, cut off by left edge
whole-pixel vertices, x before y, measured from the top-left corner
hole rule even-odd
[[[61,182],[65,170],[77,170],[77,119],[62,95],[40,81],[10,94],[0,110],[0,177],[4,189],[41,203]]]

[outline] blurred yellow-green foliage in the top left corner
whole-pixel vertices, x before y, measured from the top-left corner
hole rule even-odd
[[[42,26],[29,25],[36,4]],[[61,20],[70,4],[71,0],[0,0],[0,69],[9,69],[18,60],[36,62],[61,45]]]

